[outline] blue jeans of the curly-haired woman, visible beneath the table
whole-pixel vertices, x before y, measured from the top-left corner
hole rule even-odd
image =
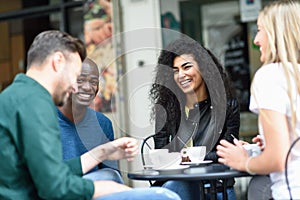
[[[200,199],[199,181],[167,181],[162,187],[176,192],[182,200]],[[233,187],[227,188],[227,195],[229,200],[236,200]],[[222,192],[217,193],[218,200],[222,200],[222,196]],[[209,194],[206,195],[206,199],[210,199]]]

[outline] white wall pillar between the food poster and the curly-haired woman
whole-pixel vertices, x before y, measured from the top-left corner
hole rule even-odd
[[[142,142],[153,134],[150,124],[148,93],[153,80],[152,72],[161,49],[159,0],[121,0],[121,19],[125,58],[123,85],[124,132]],[[133,163],[121,162],[121,170],[142,169],[140,155]],[[148,186],[147,181],[130,181],[134,187]]]

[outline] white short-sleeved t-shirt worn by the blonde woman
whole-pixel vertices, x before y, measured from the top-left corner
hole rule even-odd
[[[300,67],[300,65],[299,65]],[[293,83],[292,83],[293,84]],[[280,63],[268,64],[261,67],[255,74],[252,81],[250,110],[254,113],[259,109],[269,109],[283,113],[288,118],[291,130],[291,106],[287,93],[287,81]],[[292,85],[293,100],[297,111],[296,133],[300,136],[300,96],[296,95],[295,85]],[[264,131],[261,124],[258,124],[259,133],[264,138]],[[290,131],[290,143],[293,142],[292,131]],[[292,189],[293,199],[300,199],[300,141],[294,146],[288,162],[288,180]],[[275,199],[289,199],[285,173],[274,172],[270,174],[272,180],[272,196]]]

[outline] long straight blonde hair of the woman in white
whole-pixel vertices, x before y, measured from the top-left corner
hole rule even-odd
[[[272,2],[263,8],[258,17],[268,35],[264,65],[274,62],[283,65],[291,102],[292,127],[295,130],[296,111],[292,101],[291,81],[296,83],[296,95],[300,94],[300,1]]]

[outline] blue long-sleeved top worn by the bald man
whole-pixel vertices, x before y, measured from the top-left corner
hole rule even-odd
[[[57,113],[64,160],[80,157],[92,148],[114,140],[112,123],[100,112],[87,108],[85,116],[77,123],[71,122],[59,109]],[[104,161],[99,167],[117,169],[117,162]]]

